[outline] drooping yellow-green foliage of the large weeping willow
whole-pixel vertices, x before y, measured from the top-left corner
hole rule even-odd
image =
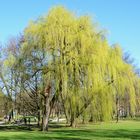
[[[135,111],[133,68],[123,61],[120,47],[110,47],[88,16],[76,17],[55,7],[29,24],[25,40],[22,49],[36,46],[44,51],[46,79],[53,82],[71,125],[85,111],[93,112],[97,120],[111,119],[116,97],[125,93]]]

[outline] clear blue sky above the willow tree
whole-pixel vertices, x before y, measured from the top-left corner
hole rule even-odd
[[[140,66],[140,0],[0,0],[0,42],[56,5],[92,16],[108,30],[110,44],[119,43]]]

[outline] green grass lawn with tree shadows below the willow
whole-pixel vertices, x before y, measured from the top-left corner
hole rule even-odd
[[[24,130],[22,130],[24,129]],[[88,124],[78,128],[50,128],[49,132],[21,127],[0,127],[0,140],[140,140],[139,121]]]

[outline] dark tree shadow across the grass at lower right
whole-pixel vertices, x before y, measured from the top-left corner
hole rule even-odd
[[[94,138],[120,138],[120,139],[140,139],[140,130],[109,130],[109,129],[87,129],[87,130],[56,130],[56,133],[60,133],[65,136],[80,136],[83,139],[92,140]]]

